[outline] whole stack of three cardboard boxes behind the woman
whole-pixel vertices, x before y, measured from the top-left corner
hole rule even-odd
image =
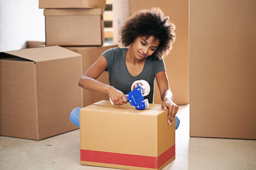
[[[106,0],[39,0],[39,8],[46,8],[46,46],[61,45],[80,53],[85,73],[101,53],[117,47],[114,44],[104,44],[105,6]],[[109,84],[108,79],[109,76],[105,72],[98,78],[106,84]],[[84,107],[108,98],[107,94],[83,90]]]

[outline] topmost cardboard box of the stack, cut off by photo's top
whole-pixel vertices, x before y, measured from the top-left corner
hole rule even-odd
[[[39,0],[39,8],[105,8],[106,0]]]

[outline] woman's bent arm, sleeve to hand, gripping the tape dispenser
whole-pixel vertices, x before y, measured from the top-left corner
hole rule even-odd
[[[89,67],[85,74],[82,75],[78,85],[87,90],[107,93],[115,105],[120,106],[123,105],[123,103],[127,103],[126,96],[120,90],[96,80],[106,68],[106,58],[100,55],[98,60]]]

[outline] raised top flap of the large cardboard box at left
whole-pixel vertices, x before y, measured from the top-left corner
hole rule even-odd
[[[62,48],[60,46],[47,46],[41,48],[5,51],[4,53],[29,59],[34,62],[81,56],[74,51]]]

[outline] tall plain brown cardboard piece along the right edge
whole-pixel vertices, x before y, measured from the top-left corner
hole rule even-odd
[[[256,139],[256,1],[190,1],[190,136]]]

